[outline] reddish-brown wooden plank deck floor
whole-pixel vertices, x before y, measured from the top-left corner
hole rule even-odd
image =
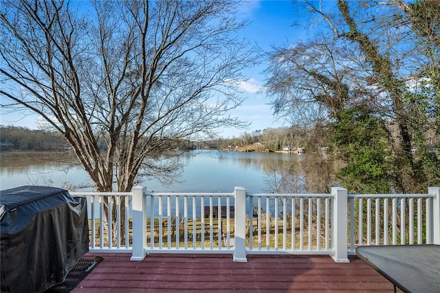
[[[148,255],[130,261],[124,253],[88,253],[104,257],[74,289],[89,292],[393,292],[364,261],[335,263],[331,257],[248,255]]]

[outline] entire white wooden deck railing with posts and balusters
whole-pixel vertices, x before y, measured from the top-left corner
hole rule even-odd
[[[360,245],[440,244],[440,187],[427,194],[72,192],[89,202],[91,251],[331,255]],[[104,214],[105,213],[105,214]],[[113,219],[107,221],[106,219]],[[111,224],[113,222],[113,224]]]

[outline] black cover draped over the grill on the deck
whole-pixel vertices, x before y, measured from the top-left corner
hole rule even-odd
[[[62,283],[89,250],[87,202],[65,189],[0,191],[1,292],[43,292]]]

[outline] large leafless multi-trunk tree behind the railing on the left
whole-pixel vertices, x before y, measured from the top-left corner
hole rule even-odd
[[[173,178],[179,139],[243,126],[235,1],[2,1],[0,95],[61,132],[96,191]],[[161,159],[162,158],[162,159]],[[171,175],[170,175],[171,174]]]

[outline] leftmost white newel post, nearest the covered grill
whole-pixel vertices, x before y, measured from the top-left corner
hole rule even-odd
[[[144,189],[142,186],[135,186],[131,189],[133,193],[133,248],[131,250],[131,261],[142,261],[145,257],[146,246],[146,213]]]

